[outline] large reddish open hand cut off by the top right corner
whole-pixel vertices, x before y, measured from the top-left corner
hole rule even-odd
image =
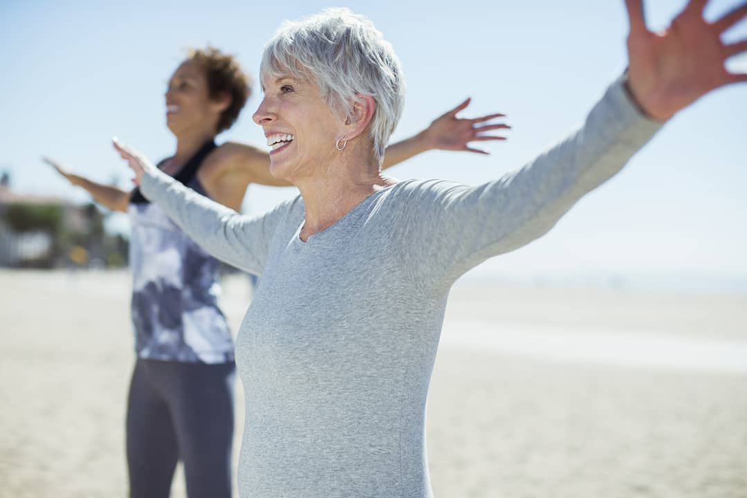
[[[660,33],[646,28],[642,0],[625,4],[630,20],[628,87],[649,116],[666,121],[710,90],[747,81],[747,74],[725,67],[728,57],[747,52],[747,40],[721,40],[724,31],[747,17],[747,4],[708,22],[703,18],[707,0],[690,0]]]

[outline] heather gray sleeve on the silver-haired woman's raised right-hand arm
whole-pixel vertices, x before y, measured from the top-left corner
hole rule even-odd
[[[411,253],[410,264],[420,268],[420,278],[451,284],[487,258],[536,240],[619,172],[660,127],[636,107],[623,76],[581,128],[521,169],[477,187],[422,183],[403,214],[406,224],[418,227],[407,230],[410,243],[418,237],[422,249]]]

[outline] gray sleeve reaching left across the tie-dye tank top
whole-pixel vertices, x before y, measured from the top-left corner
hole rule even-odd
[[[263,273],[270,240],[292,202],[283,202],[267,214],[248,217],[196,193],[158,169],[143,175],[140,191],[215,258],[255,275]]]

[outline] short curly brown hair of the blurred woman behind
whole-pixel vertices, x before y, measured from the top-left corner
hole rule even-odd
[[[226,93],[231,96],[231,104],[220,113],[216,132],[231,128],[252,93],[251,78],[241,69],[233,55],[224,54],[211,46],[205,49],[190,49],[187,52],[187,60],[193,60],[202,66],[208,80],[208,93],[211,99],[217,99]]]

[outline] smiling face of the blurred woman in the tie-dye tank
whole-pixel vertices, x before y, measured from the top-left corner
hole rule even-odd
[[[225,105],[210,98],[205,71],[193,60],[187,60],[169,80],[166,91],[166,123],[179,136],[206,125],[217,131],[217,122]]]

